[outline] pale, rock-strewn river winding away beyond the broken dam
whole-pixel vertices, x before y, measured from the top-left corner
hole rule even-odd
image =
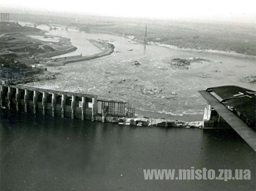
[[[49,31],[48,26],[38,27],[48,30],[53,36],[71,39],[78,49],[69,53],[69,56],[100,51],[86,39],[112,43],[115,52],[94,60],[48,67],[49,71],[61,74],[55,80],[26,84],[29,86],[129,100],[136,107],[135,113],[138,116],[185,121],[202,120],[206,102],[198,93],[199,90],[220,85],[239,85],[256,90],[255,84],[240,81],[243,77],[255,75],[255,59],[170,49],[152,44],[144,46],[113,34],[85,33],[76,29],[65,31],[61,27]],[[174,58],[191,57],[210,61],[192,63],[188,70],[168,64]],[[132,65],[134,61],[139,61],[141,65]],[[161,92],[155,93],[152,91],[154,89]]]

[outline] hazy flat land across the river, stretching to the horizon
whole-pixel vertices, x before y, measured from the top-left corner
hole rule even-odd
[[[86,32],[105,32],[147,41],[197,50],[218,50],[244,55],[256,55],[254,24],[214,21],[152,20],[114,18],[92,15],[26,15],[14,14],[13,19],[29,22],[51,22],[77,27]]]

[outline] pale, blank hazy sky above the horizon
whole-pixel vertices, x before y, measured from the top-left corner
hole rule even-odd
[[[8,0],[2,1],[0,3],[1,7],[19,7],[23,11],[34,9],[38,10],[38,13],[93,13],[153,19],[199,18],[250,23],[256,21],[255,0]]]

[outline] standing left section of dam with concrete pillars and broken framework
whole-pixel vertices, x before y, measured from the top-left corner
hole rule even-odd
[[[102,122],[135,115],[130,103],[97,99],[96,95],[9,84],[0,84],[0,88],[0,107],[10,110]]]

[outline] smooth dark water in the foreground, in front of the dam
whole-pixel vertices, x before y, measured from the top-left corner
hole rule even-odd
[[[255,190],[232,129],[134,127],[0,110],[1,190]],[[143,169],[250,169],[251,180],[144,180]]]

